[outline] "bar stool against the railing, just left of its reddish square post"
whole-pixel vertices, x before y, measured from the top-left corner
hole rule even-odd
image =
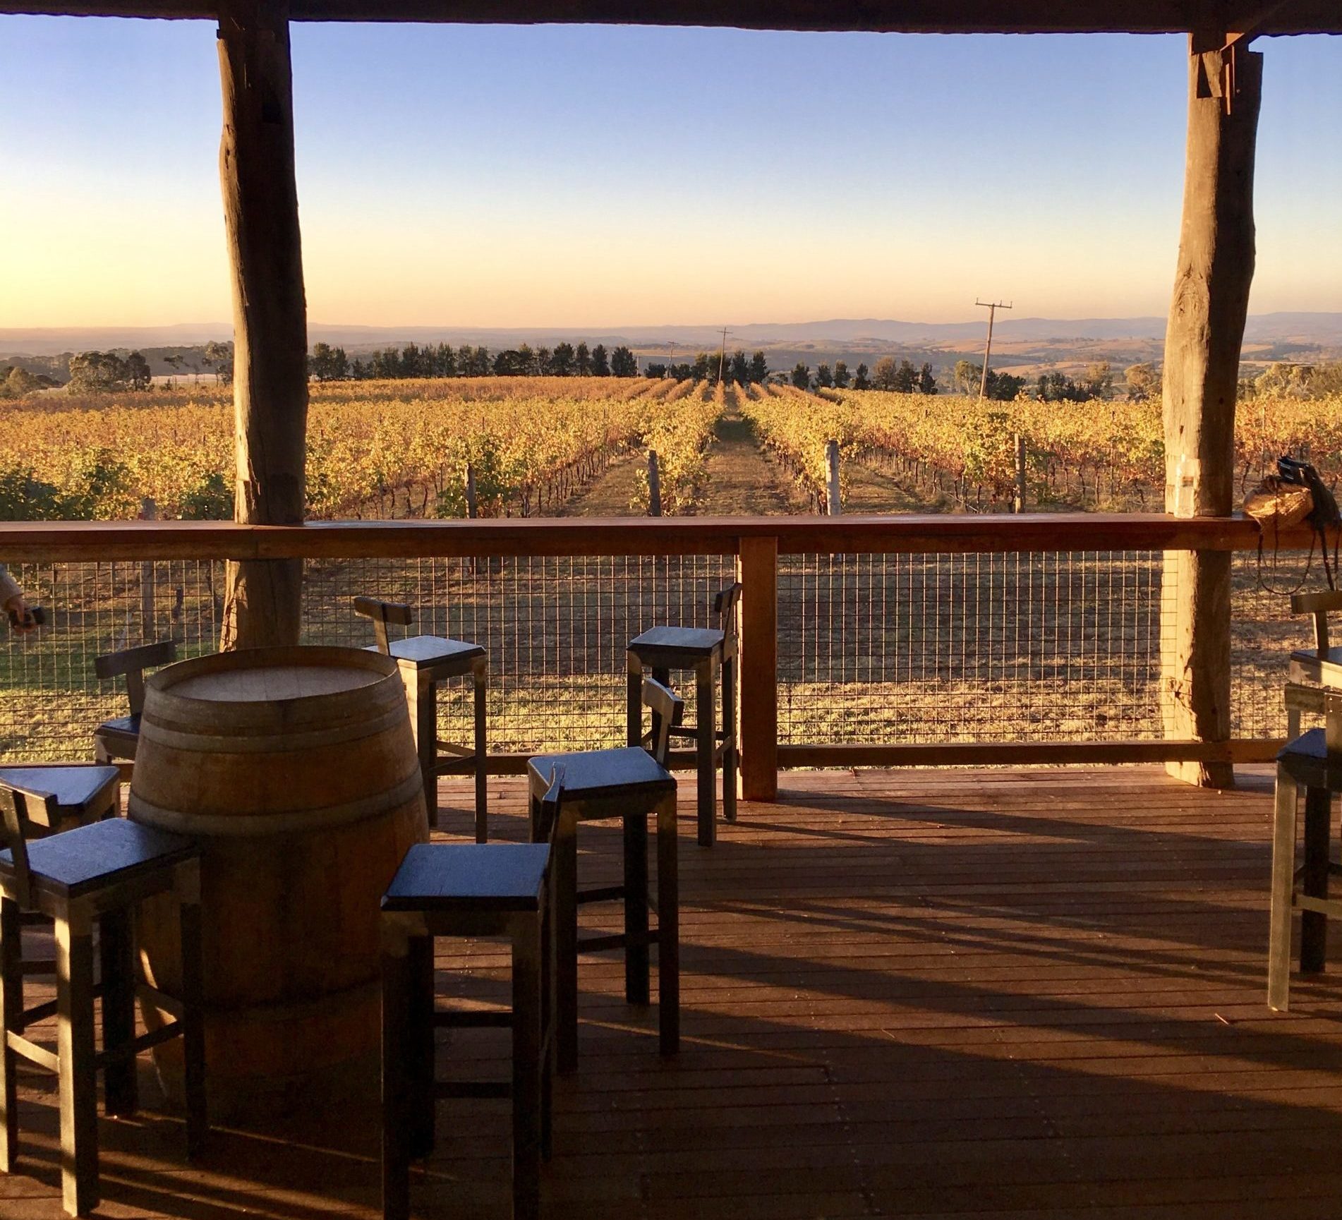
[[[695,742],[695,762],[698,766],[698,813],[699,844],[713,847],[717,840],[717,793],[715,772],[722,762],[722,816],[727,821],[737,820],[737,604],[741,601],[741,585],[731,584],[719,589],[713,599],[713,612],[718,616],[718,628],[703,627],[652,627],[643,635],[629,640],[627,650],[628,684],[625,710],[628,715],[629,745],[643,742],[641,709],[639,691],[643,683],[644,667],[652,671],[652,679],[667,686],[671,670],[694,670],[695,675],[695,725],[676,725],[672,737],[690,738]],[[722,731],[714,725],[714,679],[722,674]]]

